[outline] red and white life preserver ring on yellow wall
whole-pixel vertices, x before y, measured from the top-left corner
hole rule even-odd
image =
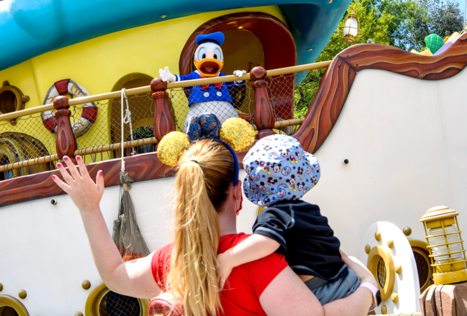
[[[81,85],[78,85],[71,79],[63,79],[54,83],[49,88],[45,95],[44,102],[42,105],[54,102],[54,99],[59,95],[72,94],[80,97],[86,97],[90,95],[88,90]],[[56,132],[57,120],[55,119],[54,110],[44,111],[40,114],[42,123],[45,128],[51,133]],[[72,123],[72,130],[76,138],[84,135],[91,127],[91,124],[96,121],[97,118],[97,106],[94,102],[84,103],[83,112],[81,117],[76,122]]]

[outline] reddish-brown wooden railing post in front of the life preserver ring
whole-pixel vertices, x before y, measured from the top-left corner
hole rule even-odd
[[[70,122],[72,112],[69,110],[68,98],[65,96],[56,97],[54,99],[54,108],[56,109],[55,118],[57,119],[55,148],[58,158],[62,159],[63,156],[68,156],[72,159],[73,163],[76,163],[74,151],[78,149],[78,144],[76,143]]]

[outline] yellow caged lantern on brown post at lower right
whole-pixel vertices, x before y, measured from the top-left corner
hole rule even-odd
[[[458,212],[446,206],[437,206],[420,220],[425,227],[434,284],[467,281],[466,250],[457,215]]]

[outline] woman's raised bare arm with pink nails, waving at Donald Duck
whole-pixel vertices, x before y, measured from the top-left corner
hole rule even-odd
[[[152,276],[152,254],[124,263],[110,236],[99,208],[104,193],[102,170],[97,173],[96,183],[94,183],[81,157],[76,157],[79,172],[70,158],[65,156],[63,160],[71,175],[61,163],[57,163],[58,170],[66,183],[57,176],[52,176],[52,179],[70,195],[80,212],[88,235],[92,257],[102,281],[110,290],[123,295],[137,298],[157,296],[161,289]]]

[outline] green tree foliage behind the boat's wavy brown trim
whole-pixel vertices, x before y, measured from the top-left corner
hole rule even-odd
[[[426,46],[427,35],[436,33],[444,37],[464,28],[459,4],[450,0],[354,0],[351,6],[359,17],[361,30],[352,45],[366,43],[371,38],[375,43],[421,51]],[[316,62],[331,60],[350,46],[342,41],[340,30],[351,12],[349,7]],[[295,86],[295,118],[305,116],[318,92],[324,71],[317,69],[297,74],[298,79],[305,78]]]

